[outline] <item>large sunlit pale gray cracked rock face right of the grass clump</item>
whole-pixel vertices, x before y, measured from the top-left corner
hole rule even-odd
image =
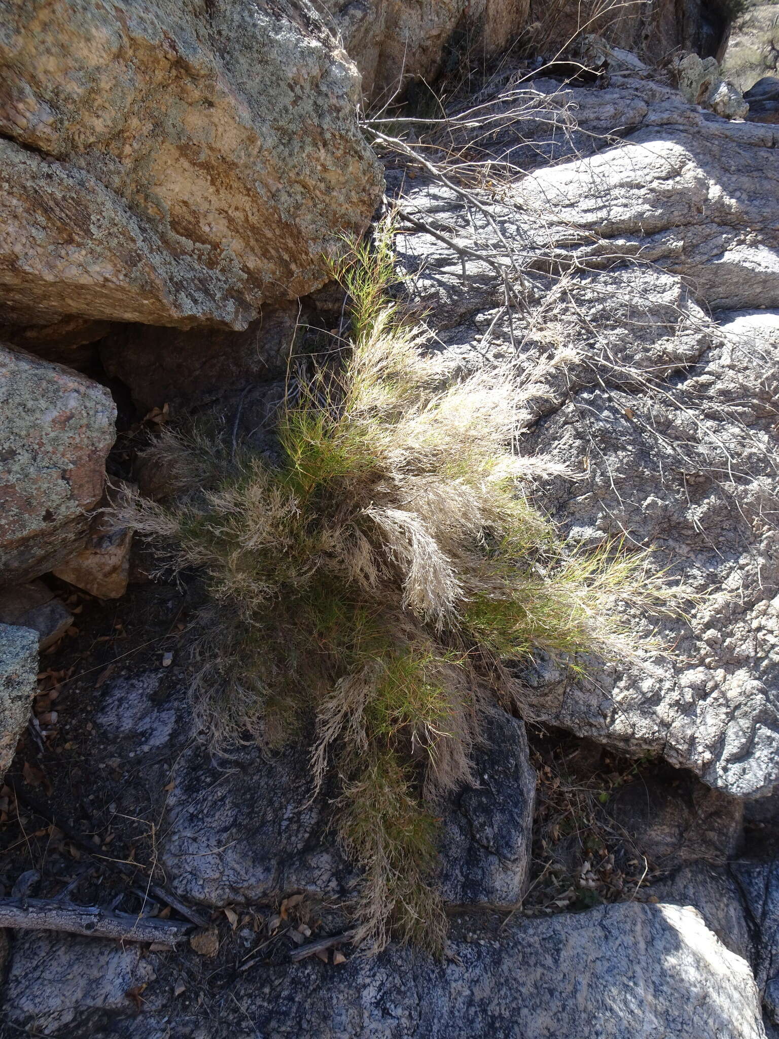
[[[568,100],[582,127],[623,139],[516,179],[490,220],[434,184],[404,189],[403,208],[450,238],[499,257],[509,243],[529,314],[509,318],[495,271],[424,232],[399,236],[401,259],[454,364],[517,357],[520,451],[579,471],[534,491],[572,540],[625,536],[694,592],[714,589],[689,620],[660,623],[671,656],[552,675],[536,716],[762,796],[779,783],[779,151],[772,127],[612,84]],[[507,155],[513,133],[528,155],[522,131],[486,146]],[[575,151],[568,128],[555,140],[559,158]]]

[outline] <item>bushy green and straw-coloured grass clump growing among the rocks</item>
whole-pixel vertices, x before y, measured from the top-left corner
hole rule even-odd
[[[359,937],[440,952],[439,802],[471,778],[484,705],[523,709],[505,659],[624,654],[615,606],[667,591],[645,555],[571,554],[531,507],[522,481],[546,467],[512,447],[514,374],[444,378],[387,297],[390,229],[341,275],[350,348],[285,407],[275,451],[164,431],[171,497],[130,518],[208,591],[198,725],[272,745],[313,718],[313,787],[338,784],[364,871]]]

